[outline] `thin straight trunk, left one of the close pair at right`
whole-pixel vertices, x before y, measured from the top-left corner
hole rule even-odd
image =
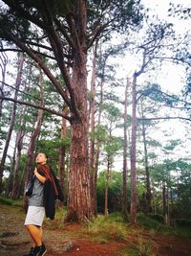
[[[122,182],[122,219],[127,220],[127,92],[129,87],[129,79],[125,86],[125,102],[124,102],[124,144],[123,144],[123,182]]]

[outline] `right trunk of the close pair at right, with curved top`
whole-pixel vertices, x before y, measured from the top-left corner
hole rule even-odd
[[[132,87],[132,146],[131,146],[131,223],[136,222],[137,217],[137,178],[136,178],[136,142],[137,142],[137,113],[136,113],[136,86],[137,86],[137,73],[134,74],[133,87]]]

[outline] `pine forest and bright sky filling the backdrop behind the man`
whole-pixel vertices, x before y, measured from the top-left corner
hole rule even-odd
[[[189,220],[188,1],[17,2],[1,1],[1,194],[23,198],[44,151],[65,221]]]

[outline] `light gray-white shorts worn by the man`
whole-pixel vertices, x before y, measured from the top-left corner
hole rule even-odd
[[[25,225],[42,226],[45,217],[45,207],[29,206]]]

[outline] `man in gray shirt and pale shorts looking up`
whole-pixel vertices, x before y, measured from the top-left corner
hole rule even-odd
[[[29,208],[25,220],[25,227],[33,241],[32,248],[26,256],[42,256],[47,249],[42,242],[42,222],[45,216],[44,184],[46,180],[53,182],[53,176],[47,163],[47,156],[40,152],[35,158],[37,168],[33,172],[32,196],[29,198]]]

